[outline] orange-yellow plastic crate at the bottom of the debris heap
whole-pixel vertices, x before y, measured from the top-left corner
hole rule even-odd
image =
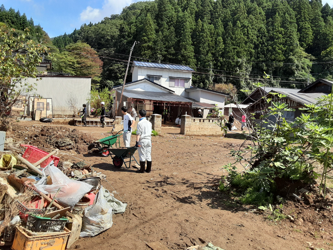
[[[65,232],[32,234],[17,226],[12,250],[65,250],[70,231],[65,228]]]

